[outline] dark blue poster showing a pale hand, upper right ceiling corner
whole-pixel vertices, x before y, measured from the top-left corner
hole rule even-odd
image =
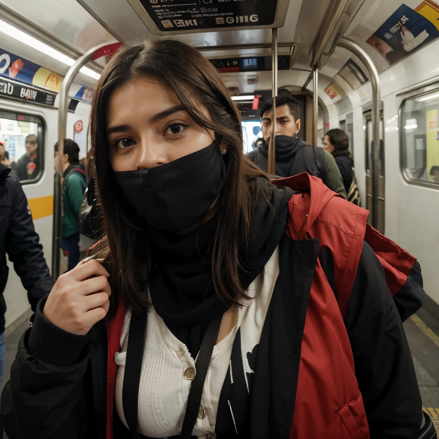
[[[381,27],[367,40],[385,60],[392,65],[404,58],[412,50],[420,49],[439,37],[437,22],[432,22],[434,11],[433,2],[422,2],[416,11],[402,4]],[[422,11],[418,12],[417,10]],[[431,17],[431,18],[430,18]],[[439,17],[439,13],[437,15]]]

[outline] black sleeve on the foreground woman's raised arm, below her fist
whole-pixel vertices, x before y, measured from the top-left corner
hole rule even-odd
[[[79,439],[90,436],[90,385],[86,371],[89,335],[70,334],[36,309],[33,327],[23,334],[5,386],[0,416],[10,439]]]

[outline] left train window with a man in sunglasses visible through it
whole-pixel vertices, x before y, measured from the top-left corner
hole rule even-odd
[[[40,118],[0,111],[0,161],[22,184],[35,183],[43,173],[44,126]]]

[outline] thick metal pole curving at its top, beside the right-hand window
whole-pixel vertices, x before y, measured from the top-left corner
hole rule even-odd
[[[372,227],[378,228],[378,182],[380,173],[380,79],[371,57],[353,40],[342,37],[337,46],[351,51],[366,66],[372,85]]]

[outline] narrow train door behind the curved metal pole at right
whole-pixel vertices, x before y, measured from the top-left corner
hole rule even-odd
[[[385,233],[385,161],[384,161],[384,116],[380,112],[380,145],[379,145],[379,166],[375,171],[378,172],[378,194],[373,193],[373,127],[372,127],[372,113],[364,113],[364,127],[365,127],[365,159],[366,159],[366,209],[371,212],[367,217],[367,223],[372,224],[372,198],[378,198],[378,223],[375,227],[382,234]]]

